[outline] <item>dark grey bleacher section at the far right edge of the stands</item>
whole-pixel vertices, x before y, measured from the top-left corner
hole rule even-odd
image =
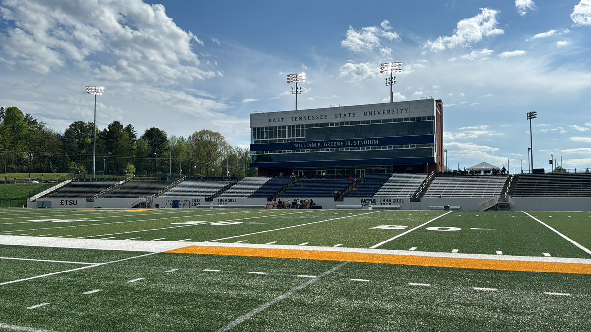
[[[517,174],[512,197],[591,197],[591,173]]]

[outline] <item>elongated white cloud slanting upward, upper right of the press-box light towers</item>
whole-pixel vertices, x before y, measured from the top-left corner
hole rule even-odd
[[[443,51],[447,48],[469,46],[484,37],[504,34],[504,30],[496,27],[498,24],[496,14],[498,13],[494,9],[480,8],[480,14],[457,22],[452,36],[439,37],[436,41],[429,40],[423,45],[423,48],[436,52]]]

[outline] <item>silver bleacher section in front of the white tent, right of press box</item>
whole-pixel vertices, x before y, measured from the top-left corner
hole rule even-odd
[[[423,197],[495,197],[507,179],[504,174],[435,177]]]

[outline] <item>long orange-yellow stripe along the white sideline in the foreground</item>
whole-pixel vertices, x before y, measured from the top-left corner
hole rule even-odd
[[[523,272],[551,272],[563,274],[591,275],[591,264],[499,261],[493,259],[439,258],[408,255],[382,255],[378,253],[350,253],[315,250],[225,248],[189,246],[167,251],[166,253],[191,253],[197,255],[249,256],[265,258],[313,259],[317,261],[361,262],[380,264],[400,264],[417,266],[436,266],[440,268],[467,268]]]

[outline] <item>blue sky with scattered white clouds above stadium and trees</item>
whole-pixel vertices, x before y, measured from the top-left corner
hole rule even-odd
[[[0,104],[63,132],[97,125],[210,129],[248,145],[249,114],[294,109],[285,74],[306,72],[298,108],[444,103],[450,168],[591,167],[591,0],[0,0]]]

